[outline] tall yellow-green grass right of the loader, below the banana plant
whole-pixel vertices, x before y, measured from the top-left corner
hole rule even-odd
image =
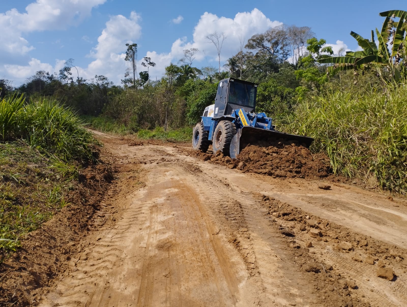
[[[287,130],[315,138],[333,171],[407,194],[407,87],[336,91],[304,102]]]

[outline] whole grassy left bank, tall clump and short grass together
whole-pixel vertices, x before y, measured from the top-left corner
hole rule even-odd
[[[55,101],[0,100],[0,251],[15,250],[22,235],[67,205],[81,167],[98,158],[96,145]]]

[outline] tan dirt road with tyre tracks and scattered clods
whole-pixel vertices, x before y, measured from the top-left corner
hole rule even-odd
[[[119,179],[40,306],[406,306],[404,200],[98,136]]]

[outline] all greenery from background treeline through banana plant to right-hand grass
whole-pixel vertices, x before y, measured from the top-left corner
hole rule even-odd
[[[284,25],[241,44],[223,71],[220,64],[194,67],[199,50],[193,48],[184,51],[179,65],[169,65],[164,76],[153,81],[149,67],[154,59],[144,58],[147,70],[137,76],[137,44],[128,44],[130,65],[123,86],[104,76],[74,78],[72,71],[77,71],[69,60],[58,75],[39,71],[17,89],[7,80],[1,80],[0,87],[3,96],[16,90],[33,100],[60,101],[103,131],[183,140],[204,107],[212,104],[219,80],[256,82],[256,111],[274,118],[280,130],[314,137],[313,150],[328,154],[336,174],[407,194],[407,13],[381,15],[383,27],[372,31],[370,40],[351,32],[362,48],[357,52],[333,54],[310,28]],[[216,32],[207,38],[226,39]],[[220,54],[220,46],[215,46]],[[26,138],[23,133],[19,137]]]

